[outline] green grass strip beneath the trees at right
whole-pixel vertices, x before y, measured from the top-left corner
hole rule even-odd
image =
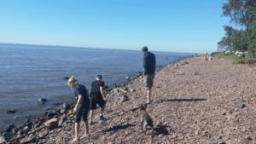
[[[230,54],[230,55],[226,55],[222,52],[217,52],[213,54],[214,57],[218,57],[218,58],[224,58],[224,59],[232,59],[236,61],[236,64],[238,62],[242,62],[244,61],[245,63],[249,62],[249,60],[256,60],[256,55],[253,55],[253,57],[250,56],[245,56],[245,57],[239,57],[236,54]]]

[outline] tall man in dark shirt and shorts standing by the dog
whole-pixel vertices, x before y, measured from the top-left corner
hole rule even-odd
[[[144,62],[143,62],[143,78],[146,85],[146,91],[148,94],[148,101],[150,103],[151,89],[154,83],[154,73],[155,73],[155,56],[154,54],[148,52],[148,47],[143,47]]]

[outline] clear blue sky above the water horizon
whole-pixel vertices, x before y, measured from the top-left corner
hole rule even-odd
[[[0,0],[0,43],[206,53],[228,0]]]

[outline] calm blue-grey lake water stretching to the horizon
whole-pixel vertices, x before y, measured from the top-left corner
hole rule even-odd
[[[191,55],[152,52],[157,66],[177,60],[180,55]],[[140,50],[0,44],[0,126],[14,116],[43,113],[38,99],[49,99],[49,103],[73,101],[73,91],[63,79],[67,76],[74,75],[89,89],[96,75],[101,74],[105,84],[112,86],[142,71]],[[17,112],[7,114],[8,109]]]

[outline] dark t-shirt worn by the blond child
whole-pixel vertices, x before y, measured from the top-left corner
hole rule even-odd
[[[74,88],[74,93],[75,96],[77,97],[77,100],[79,100],[79,95],[83,96],[83,101],[82,101],[82,106],[83,107],[90,107],[90,100],[89,100],[89,95],[88,95],[88,91],[85,88],[84,85],[78,84],[75,88]]]

